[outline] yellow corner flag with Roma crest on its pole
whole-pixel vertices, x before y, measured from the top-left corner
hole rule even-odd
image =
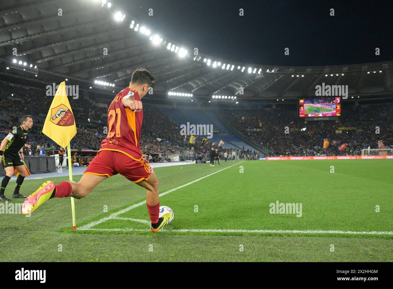
[[[70,141],[76,134],[75,119],[66,94],[66,83],[63,81],[57,88],[55,97],[46,116],[42,133],[61,147],[67,147],[68,173],[72,180]],[[71,197],[72,229],[76,230],[75,204]]]

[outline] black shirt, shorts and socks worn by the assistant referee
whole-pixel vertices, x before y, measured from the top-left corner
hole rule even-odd
[[[8,143],[4,148],[4,151],[2,152],[3,168],[24,166],[22,158],[19,155],[19,151],[24,146],[24,144],[26,144],[27,140],[29,139],[29,135],[29,131],[23,129],[22,125],[17,127],[17,129],[11,131],[11,133],[7,134],[6,139],[8,140]],[[0,188],[0,201],[9,201],[9,199],[4,196],[4,191],[6,190],[7,184],[10,179],[11,177],[6,175],[2,180]],[[22,185],[23,180],[24,177],[19,174],[17,178],[17,184],[15,186],[15,191],[12,196],[13,198],[26,198],[24,195],[21,195],[19,193],[19,189]]]

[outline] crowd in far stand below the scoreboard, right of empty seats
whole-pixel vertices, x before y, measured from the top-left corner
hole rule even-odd
[[[220,117],[244,138],[268,151],[268,156],[361,155],[362,149],[378,149],[382,140],[393,148],[391,105],[345,109],[337,121],[304,121],[294,112],[220,110]],[[378,132],[376,133],[378,128]],[[323,140],[330,145],[323,149]],[[348,144],[340,151],[341,144]]]

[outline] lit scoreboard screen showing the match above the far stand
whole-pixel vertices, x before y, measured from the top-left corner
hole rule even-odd
[[[300,98],[299,117],[317,118],[341,115],[341,98]]]

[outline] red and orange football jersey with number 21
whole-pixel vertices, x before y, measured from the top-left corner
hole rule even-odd
[[[134,96],[135,100],[141,100],[136,90],[129,87],[121,90],[108,108],[108,135],[101,142],[101,149],[120,151],[134,160],[141,160],[142,152],[139,146],[141,136],[143,109],[134,112],[124,107],[123,97]]]

